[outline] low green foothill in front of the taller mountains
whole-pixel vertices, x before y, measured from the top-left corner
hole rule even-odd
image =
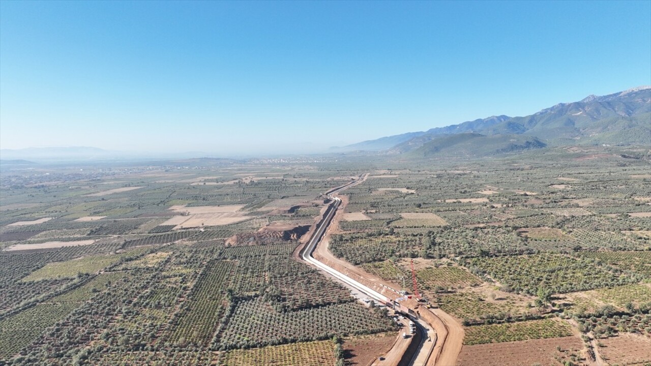
[[[430,158],[432,156],[492,156],[544,148],[547,145],[533,136],[526,135],[481,135],[473,132],[441,135],[424,143],[406,154],[408,158]]]

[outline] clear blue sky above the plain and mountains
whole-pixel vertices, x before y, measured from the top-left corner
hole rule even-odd
[[[0,1],[0,147],[334,145],[651,83],[651,1]]]

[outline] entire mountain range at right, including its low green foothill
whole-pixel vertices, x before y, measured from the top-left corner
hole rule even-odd
[[[651,145],[651,87],[590,95],[525,117],[492,116],[331,150],[426,157],[499,154],[560,145]]]

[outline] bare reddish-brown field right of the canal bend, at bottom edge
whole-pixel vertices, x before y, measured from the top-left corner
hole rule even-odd
[[[557,346],[561,346],[561,352]],[[570,354],[579,354],[581,349],[581,339],[574,336],[464,346],[459,354],[458,365],[559,365],[556,357],[569,359]]]

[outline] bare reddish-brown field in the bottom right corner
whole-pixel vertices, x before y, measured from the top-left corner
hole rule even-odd
[[[651,362],[651,339],[643,335],[624,333],[617,337],[600,339],[600,352],[611,365]]]

